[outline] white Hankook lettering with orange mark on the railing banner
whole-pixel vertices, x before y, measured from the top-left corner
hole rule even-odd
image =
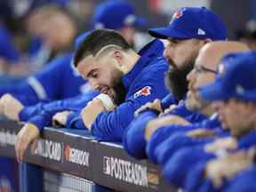
[[[89,152],[76,148],[71,148],[69,145],[65,145],[64,155],[65,159],[68,162],[80,164],[83,166],[89,166]]]

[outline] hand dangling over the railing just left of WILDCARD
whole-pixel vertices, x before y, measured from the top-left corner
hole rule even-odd
[[[18,162],[23,161],[24,153],[30,143],[32,143],[32,151],[35,151],[38,138],[39,130],[34,124],[25,124],[21,128],[15,143],[15,152]]]

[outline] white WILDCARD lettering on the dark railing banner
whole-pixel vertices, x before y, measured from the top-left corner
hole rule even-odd
[[[38,140],[35,155],[61,161],[61,144],[52,140]]]

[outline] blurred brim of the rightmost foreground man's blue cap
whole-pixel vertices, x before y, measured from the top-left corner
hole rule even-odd
[[[227,100],[228,92],[224,92],[222,84],[217,81],[200,88],[199,96],[204,100]]]

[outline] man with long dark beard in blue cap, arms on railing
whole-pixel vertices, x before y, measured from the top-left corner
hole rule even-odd
[[[165,80],[177,101],[185,98],[188,91],[186,76],[193,68],[199,50],[209,42],[227,39],[227,30],[224,24],[213,12],[206,8],[191,7],[180,8],[174,12],[172,20],[166,28],[149,29],[149,34],[168,41],[164,49],[164,57],[169,61],[169,70]],[[124,147],[132,156],[145,157],[145,153],[143,153],[146,145],[145,130],[151,130],[150,127],[152,127],[156,131],[158,127],[174,123],[173,119],[168,116],[156,118],[159,112],[169,108],[172,103],[173,100],[165,98],[162,103],[160,100],[155,100],[142,107],[142,111],[145,107],[146,110],[132,122],[124,136]],[[149,109],[147,110],[147,108]],[[184,103],[176,108],[175,112],[172,111],[173,114],[185,117],[187,120],[176,118],[176,124],[195,123],[199,119],[200,121],[203,119],[200,114],[188,111]],[[134,135],[137,136],[136,141],[140,145],[135,144],[137,142],[135,142]],[[138,153],[135,154],[132,151],[138,151]]]

